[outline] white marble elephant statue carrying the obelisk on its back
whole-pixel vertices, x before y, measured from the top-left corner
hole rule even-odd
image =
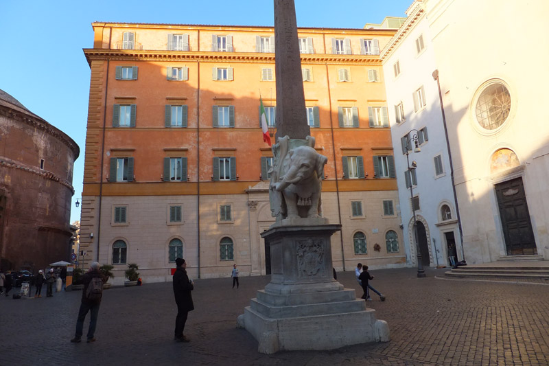
[[[287,152],[279,156],[273,167],[277,171],[271,173],[270,191],[283,196],[277,212],[281,218],[320,217],[321,178],[328,159],[314,150],[312,137],[307,137],[307,142],[309,146],[297,146],[288,151],[287,137],[279,139],[279,143],[286,146],[281,151]]]

